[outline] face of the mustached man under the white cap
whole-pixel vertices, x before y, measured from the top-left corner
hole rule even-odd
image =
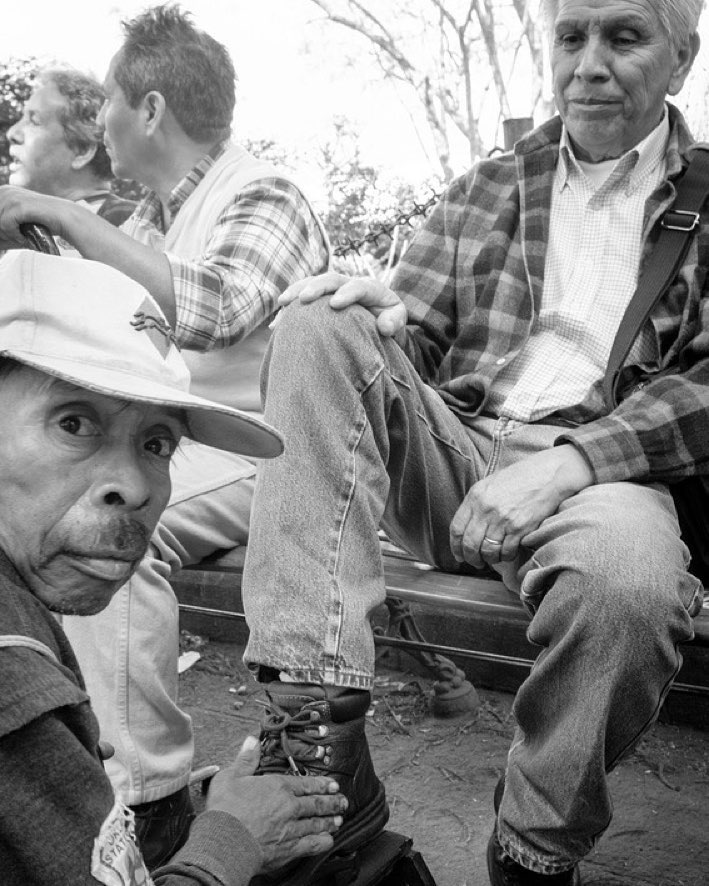
[[[23,367],[0,378],[0,549],[49,609],[104,609],[142,559],[183,430]]]

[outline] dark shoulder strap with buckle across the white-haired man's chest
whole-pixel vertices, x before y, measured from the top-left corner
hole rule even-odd
[[[660,235],[645,260],[611,348],[603,379],[603,396],[609,409],[617,405],[618,376],[625,358],[652,309],[679,273],[699,227],[699,213],[709,196],[709,145],[694,146],[689,166],[676,188],[675,201],[660,220]]]

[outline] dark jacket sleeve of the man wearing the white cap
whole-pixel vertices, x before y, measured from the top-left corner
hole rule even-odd
[[[95,844],[115,797],[100,760],[78,740],[68,706],[0,738],[0,870],[3,886],[96,886]],[[261,861],[246,828],[223,812],[193,825],[155,886],[246,886]],[[133,853],[133,886],[145,886]],[[106,881],[108,882],[108,881]]]

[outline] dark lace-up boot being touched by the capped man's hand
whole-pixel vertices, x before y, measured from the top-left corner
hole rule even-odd
[[[327,775],[337,781],[348,807],[342,826],[333,834],[335,845],[326,853],[328,859],[355,853],[384,829],[389,818],[384,785],[374,772],[364,734],[371,696],[360,690],[340,692],[335,696],[322,686],[270,683],[256,771],[257,775]],[[302,882],[314,883],[325,876],[322,862],[321,857],[317,871],[312,860],[299,863],[293,882],[303,877],[303,865],[309,866],[310,880]],[[258,880],[268,883],[271,876],[279,884],[290,882],[282,872]]]

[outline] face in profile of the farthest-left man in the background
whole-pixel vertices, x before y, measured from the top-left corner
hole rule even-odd
[[[62,197],[70,186],[74,152],[64,140],[59,114],[64,99],[53,83],[38,86],[22,117],[8,130],[11,185]]]

